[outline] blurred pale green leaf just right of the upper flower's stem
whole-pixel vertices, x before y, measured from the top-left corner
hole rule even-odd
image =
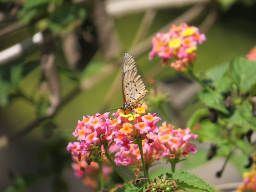
[[[227,72],[227,69],[228,69],[228,62],[224,62],[221,65],[215,66],[206,71],[206,74],[212,80],[212,84],[214,85],[215,88],[219,86],[220,81],[222,80],[223,76]]]

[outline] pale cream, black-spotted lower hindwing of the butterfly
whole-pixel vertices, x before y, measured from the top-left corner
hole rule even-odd
[[[136,68],[136,66],[135,66]],[[123,94],[126,102],[137,104],[148,93],[145,90],[145,84],[136,70],[128,70],[123,76]]]

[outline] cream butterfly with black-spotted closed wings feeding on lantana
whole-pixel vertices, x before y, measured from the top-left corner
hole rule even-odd
[[[136,68],[136,62],[130,53],[124,53],[122,60],[122,93],[123,106],[121,110],[134,110],[135,106],[148,93],[145,84]]]

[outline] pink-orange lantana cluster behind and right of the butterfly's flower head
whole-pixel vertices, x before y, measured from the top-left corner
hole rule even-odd
[[[197,153],[196,145],[190,143],[191,139],[196,139],[198,135],[190,133],[190,129],[175,129],[171,124],[162,123],[159,127],[158,134],[148,134],[148,138],[154,142],[148,145],[146,142],[142,143],[143,155],[147,167],[151,167],[155,160],[161,158],[177,159],[187,157],[189,153],[194,155]],[[117,165],[136,165],[141,167],[141,156],[138,145],[132,144],[129,151],[120,150],[115,155],[115,162]]]

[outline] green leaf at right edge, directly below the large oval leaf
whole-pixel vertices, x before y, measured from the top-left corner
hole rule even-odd
[[[249,101],[237,106],[228,121],[238,127],[237,133],[246,133],[250,129],[256,131],[256,117],[252,115],[252,106]]]

